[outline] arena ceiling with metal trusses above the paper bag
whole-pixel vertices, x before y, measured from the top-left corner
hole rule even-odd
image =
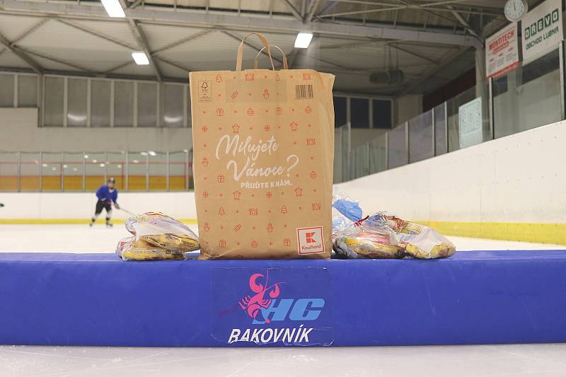
[[[485,35],[506,22],[505,0],[120,1],[125,18],[98,0],[0,0],[0,69],[185,81],[187,71],[233,69],[238,41],[259,31],[291,68],[336,74],[337,91],[428,93],[474,66]],[[314,34],[308,49],[294,48],[300,31]],[[260,42],[248,47],[251,67]],[[151,64],[134,63],[138,50]],[[392,70],[403,81],[369,81]]]

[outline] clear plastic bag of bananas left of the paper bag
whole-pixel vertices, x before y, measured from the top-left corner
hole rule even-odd
[[[126,220],[134,237],[124,238],[116,253],[124,260],[185,259],[183,253],[200,249],[195,233],[161,212],[146,212]]]

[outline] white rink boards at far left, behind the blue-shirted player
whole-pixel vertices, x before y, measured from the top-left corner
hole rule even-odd
[[[90,219],[93,192],[0,192],[1,219]],[[128,211],[161,211],[178,219],[196,219],[194,192],[120,192],[118,203]],[[105,213],[105,212],[104,212]],[[104,214],[103,213],[103,214]],[[123,211],[112,217],[125,219]]]

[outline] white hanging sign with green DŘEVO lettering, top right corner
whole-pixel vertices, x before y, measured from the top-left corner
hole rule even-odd
[[[558,45],[564,39],[562,0],[546,0],[527,13],[521,25],[524,60]]]

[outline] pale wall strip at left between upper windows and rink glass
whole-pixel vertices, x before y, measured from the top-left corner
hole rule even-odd
[[[0,108],[0,151],[183,151],[191,128],[37,127],[37,109]]]

